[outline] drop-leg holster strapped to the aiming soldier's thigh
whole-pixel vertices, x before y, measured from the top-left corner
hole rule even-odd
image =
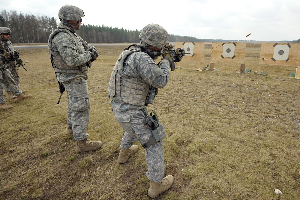
[[[166,131],[164,130],[164,126],[161,125],[161,123],[159,123],[158,116],[156,115],[156,112],[154,110],[151,110],[150,115],[147,116],[145,126],[152,130],[153,137],[142,145],[143,148],[146,149],[155,142],[161,142],[166,137]]]

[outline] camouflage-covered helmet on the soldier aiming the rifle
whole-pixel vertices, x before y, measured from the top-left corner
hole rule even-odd
[[[169,40],[169,33],[158,24],[148,24],[141,31],[139,38],[148,45],[162,49]]]

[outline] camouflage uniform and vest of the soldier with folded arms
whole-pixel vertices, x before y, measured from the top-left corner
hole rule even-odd
[[[68,93],[67,125],[73,128],[76,141],[85,140],[90,115],[87,73],[91,67],[91,52],[86,50],[97,49],[62,23],[50,34],[48,48],[57,80]]]

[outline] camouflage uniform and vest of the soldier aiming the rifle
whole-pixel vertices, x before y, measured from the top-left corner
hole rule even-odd
[[[130,148],[135,141],[143,145],[153,137],[151,129],[144,125],[147,115],[145,94],[147,96],[150,85],[156,88],[166,86],[170,77],[168,62],[161,61],[158,67],[148,54],[137,51],[125,57],[127,51],[120,55],[113,69],[108,90],[113,114],[125,130],[121,149]],[[120,72],[121,61],[124,61],[123,73]],[[148,165],[146,176],[159,183],[164,177],[163,141],[147,147],[145,155]]]

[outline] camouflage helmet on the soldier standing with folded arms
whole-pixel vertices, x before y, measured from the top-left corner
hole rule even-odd
[[[58,11],[58,18],[61,20],[79,21],[84,17],[84,12],[73,5],[64,5]]]

